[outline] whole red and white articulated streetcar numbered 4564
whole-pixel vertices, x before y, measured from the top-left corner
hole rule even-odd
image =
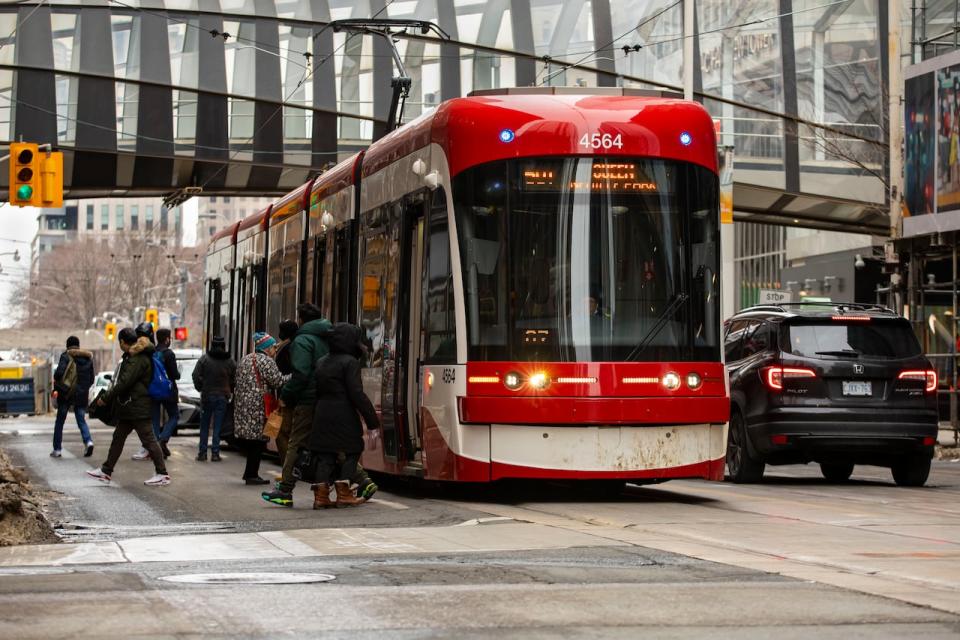
[[[372,470],[721,480],[713,121],[603,91],[444,102],[223,231],[207,336],[359,324]]]

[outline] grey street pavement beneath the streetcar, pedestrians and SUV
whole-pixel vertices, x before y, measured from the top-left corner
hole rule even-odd
[[[91,464],[68,427],[72,454],[53,460],[49,422],[0,421],[0,447],[58,492],[74,544],[0,550],[3,637],[960,636],[960,463],[935,463],[925,489],[869,467],[842,485],[783,467],[755,486],[614,496],[391,482],[362,507],[314,512],[303,490],[294,509],[263,503],[239,454],[195,462],[189,437],[170,486],[142,484],[135,436],[101,485],[83,471],[110,431],[95,431]],[[334,579],[166,581],[249,572]]]

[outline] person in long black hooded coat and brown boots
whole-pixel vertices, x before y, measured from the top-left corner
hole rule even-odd
[[[313,430],[303,448],[315,461],[313,508],[348,507],[365,500],[353,494],[350,483],[357,475],[357,463],[363,453],[363,416],[367,429],[379,429],[380,420],[370,398],[363,392],[360,378],[360,327],[337,323],[324,335],[330,354],[317,361],[315,369],[316,405]],[[330,500],[329,479],[334,480],[336,502]]]

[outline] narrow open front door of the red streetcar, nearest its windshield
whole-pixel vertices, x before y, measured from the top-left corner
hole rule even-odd
[[[420,405],[422,400],[423,380],[423,328],[421,326],[421,293],[423,285],[423,257],[424,257],[424,216],[423,204],[414,210],[411,207],[411,237],[407,246],[410,247],[409,287],[410,308],[407,315],[406,351],[407,357],[407,435],[410,445],[410,461],[421,462],[423,445],[420,434]]]

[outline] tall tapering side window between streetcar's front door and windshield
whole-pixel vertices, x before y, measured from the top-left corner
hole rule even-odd
[[[427,220],[427,257],[423,271],[423,332],[429,364],[457,360],[457,331],[453,306],[453,267],[450,263],[450,229],[447,196],[443,188],[433,193]]]

